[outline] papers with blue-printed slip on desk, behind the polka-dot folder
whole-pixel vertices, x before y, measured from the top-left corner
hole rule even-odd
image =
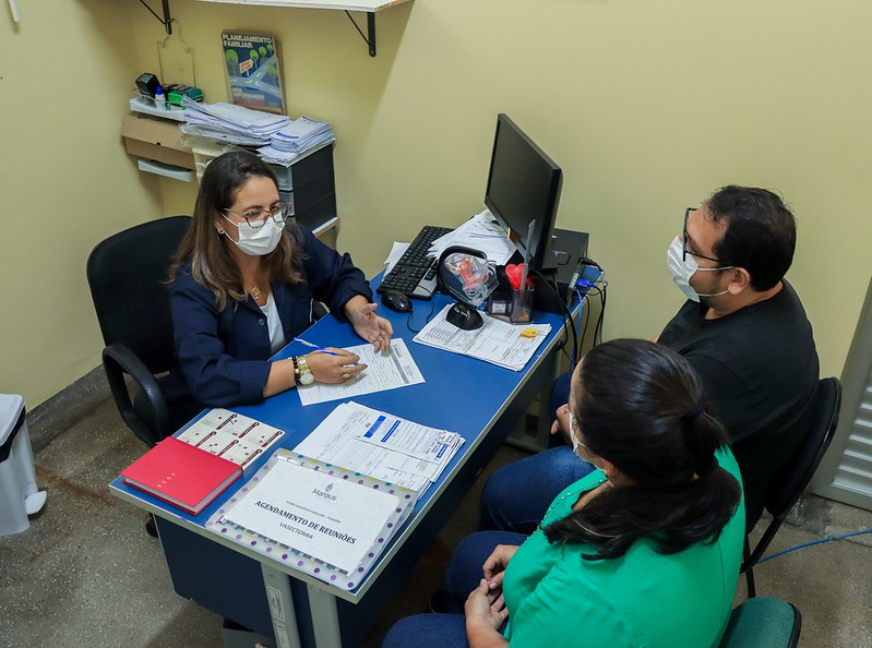
[[[463,443],[456,432],[343,403],[294,452],[406,487],[420,496]]]

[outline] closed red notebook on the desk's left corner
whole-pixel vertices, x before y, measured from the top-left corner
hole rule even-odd
[[[124,482],[194,515],[242,475],[223,457],[167,436],[124,470]]]

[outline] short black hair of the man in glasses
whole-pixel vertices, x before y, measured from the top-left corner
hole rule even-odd
[[[708,201],[715,223],[727,226],[715,256],[745,268],[755,290],[780,281],[793,262],[797,221],[784,201],[766,189],[724,187]]]

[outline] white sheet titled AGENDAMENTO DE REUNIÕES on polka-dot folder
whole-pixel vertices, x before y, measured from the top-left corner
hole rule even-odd
[[[398,504],[395,494],[282,460],[226,518],[347,574]]]

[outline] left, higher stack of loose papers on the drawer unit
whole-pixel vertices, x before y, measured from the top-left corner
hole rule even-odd
[[[263,146],[290,123],[284,115],[251,110],[232,104],[198,104],[182,100],[186,123],[179,127],[189,135],[201,135],[240,146]]]

